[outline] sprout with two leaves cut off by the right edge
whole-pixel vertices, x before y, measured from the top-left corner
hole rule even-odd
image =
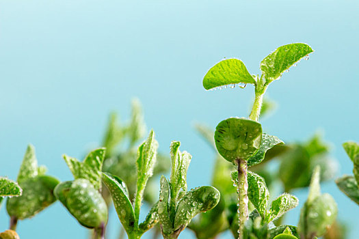
[[[336,179],[336,185],[349,199],[359,205],[359,143],[348,141],[343,147],[351,162],[354,164],[354,175],[343,175]]]

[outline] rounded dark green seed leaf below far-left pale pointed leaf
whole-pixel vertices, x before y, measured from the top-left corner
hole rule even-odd
[[[20,220],[35,216],[56,201],[53,190],[58,183],[56,178],[49,175],[38,175],[22,181],[23,195],[8,199],[8,214]]]

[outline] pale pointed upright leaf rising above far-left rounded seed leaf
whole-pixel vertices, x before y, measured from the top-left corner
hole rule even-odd
[[[29,144],[25,152],[23,163],[21,163],[20,170],[18,171],[17,182],[21,182],[34,178],[38,175],[38,160],[35,155],[34,145]]]

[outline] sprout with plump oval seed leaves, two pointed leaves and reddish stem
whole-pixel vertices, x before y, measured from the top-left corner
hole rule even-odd
[[[104,148],[93,150],[83,162],[64,155],[75,180],[58,184],[54,192],[81,225],[94,229],[94,238],[104,238],[108,217],[107,205],[100,193],[104,158]]]

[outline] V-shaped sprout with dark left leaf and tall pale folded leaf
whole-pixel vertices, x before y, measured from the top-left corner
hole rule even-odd
[[[116,175],[103,173],[103,182],[111,193],[118,218],[130,239],[141,238],[142,234],[152,228],[158,221],[158,204],[155,203],[146,216],[145,221],[139,224],[139,211],[144,198],[146,184],[148,179],[152,176],[152,171],[155,167],[157,147],[158,143],[155,140],[155,133],[151,130],[148,139],[138,148],[138,158],[136,160],[137,187],[133,205],[131,204],[126,184]]]

